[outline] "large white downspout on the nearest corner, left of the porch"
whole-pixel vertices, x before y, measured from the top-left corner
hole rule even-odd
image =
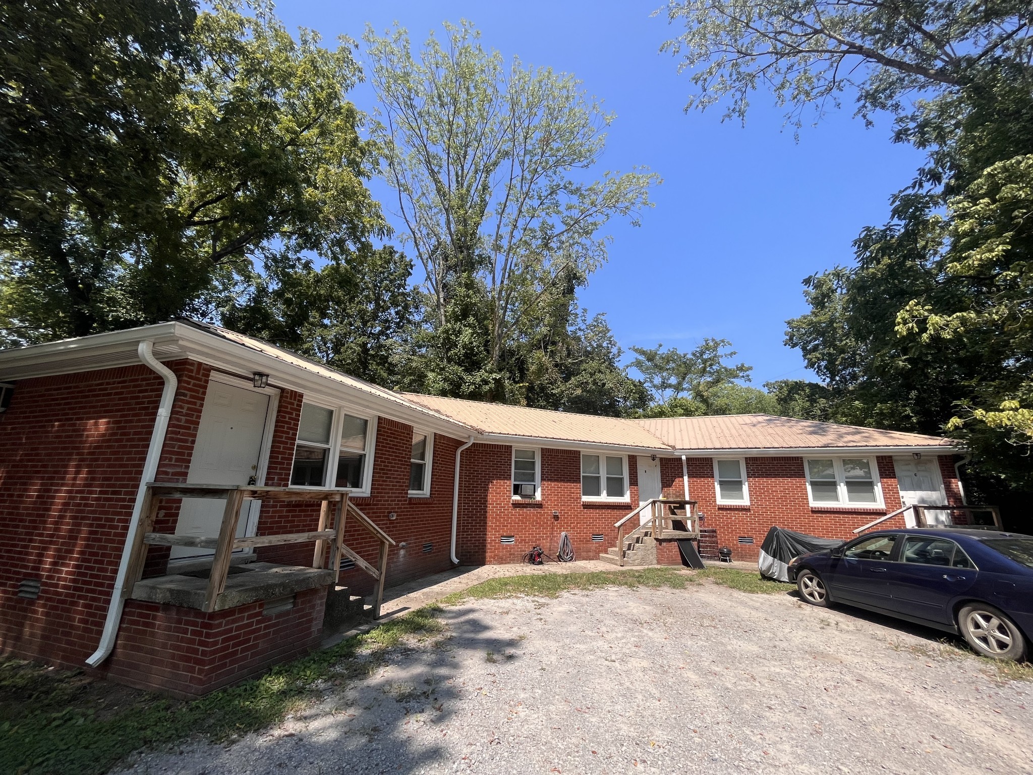
[[[139,488],[136,490],[136,501],[132,506],[132,517],[129,518],[129,530],[126,532],[125,546],[122,547],[122,560],[119,562],[119,572],[115,577],[115,589],[112,590],[112,601],[107,606],[107,618],[104,620],[104,631],[100,636],[100,644],[93,652],[86,663],[96,668],[104,659],[111,656],[115,648],[115,638],[119,633],[119,623],[122,621],[122,607],[130,590],[126,589],[126,574],[129,570],[129,557],[132,554],[132,547],[136,539],[136,528],[139,525],[139,513],[144,507],[144,498],[147,495],[147,483],[154,482],[154,475],[158,470],[158,461],[161,458],[161,447],[165,443],[165,431],[168,428],[168,415],[173,409],[173,401],[176,399],[177,380],[176,375],[154,357],[154,342],[148,340],[139,343],[136,348],[139,360],[152,371],[157,372],[165,380],[165,386],[161,392],[161,403],[158,404],[158,415],[154,420],[154,430],[151,432],[151,445],[147,450],[147,459],[144,461],[144,473],[139,478]]]

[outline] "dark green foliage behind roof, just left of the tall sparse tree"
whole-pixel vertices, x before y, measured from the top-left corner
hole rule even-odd
[[[418,301],[411,262],[390,247],[363,246],[316,269],[279,254],[223,324],[335,369],[395,388],[405,378]]]

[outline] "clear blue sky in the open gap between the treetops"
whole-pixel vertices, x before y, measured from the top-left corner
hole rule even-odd
[[[889,142],[888,120],[866,129],[849,103],[805,127],[799,142],[765,93],[753,97],[745,128],[722,123],[717,109],[684,113],[692,84],[659,53],[678,32],[651,18],[660,2],[290,0],[277,12],[326,42],[358,39],[367,22],[382,32],[396,21],[422,42],[441,22],[469,19],[486,48],[576,74],[617,114],[601,167],[648,165],[664,181],[641,226],[607,229],[609,262],[582,289],[582,304],[606,313],[625,350],[657,342],[686,350],[723,337],[754,367],[757,386],[813,377],[782,344],[785,320],[807,311],[801,281],[851,261],[851,241],[886,219],[889,195],[921,156]],[[351,96],[375,107],[367,85]],[[371,188],[384,200],[382,184]]]

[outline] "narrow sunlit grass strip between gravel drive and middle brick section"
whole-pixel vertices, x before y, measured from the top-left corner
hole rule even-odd
[[[684,589],[692,579],[672,567],[647,567],[641,570],[597,570],[588,574],[541,574],[489,579],[472,587],[452,592],[441,600],[453,606],[466,599],[499,597],[556,597],[571,589],[604,587],[669,587]]]

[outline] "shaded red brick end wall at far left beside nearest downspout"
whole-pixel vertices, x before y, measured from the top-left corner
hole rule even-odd
[[[166,365],[188,396],[198,365]],[[19,382],[0,422],[0,653],[80,667],[96,648],[163,384],[143,365]],[[37,599],[17,596],[23,579]]]

